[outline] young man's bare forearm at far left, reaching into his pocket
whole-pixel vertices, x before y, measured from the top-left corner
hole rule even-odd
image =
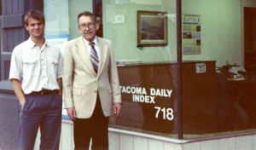
[[[25,98],[24,92],[21,88],[20,81],[15,78],[10,79],[10,81],[12,82],[12,85],[14,87],[15,95],[18,97],[18,100],[20,101],[21,109],[23,109],[24,104],[26,102],[26,98]]]

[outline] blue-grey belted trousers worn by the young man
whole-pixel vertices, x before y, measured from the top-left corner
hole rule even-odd
[[[26,95],[20,111],[18,150],[33,150],[38,127],[41,131],[40,150],[58,150],[61,136],[62,98],[49,95]]]

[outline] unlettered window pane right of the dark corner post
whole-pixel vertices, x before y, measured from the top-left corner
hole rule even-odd
[[[183,61],[196,62],[183,66],[185,137],[255,129],[256,20],[245,9],[255,6],[249,0],[182,1]]]

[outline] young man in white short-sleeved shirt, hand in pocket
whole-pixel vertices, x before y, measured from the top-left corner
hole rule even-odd
[[[20,101],[19,150],[32,150],[38,127],[40,149],[57,150],[61,134],[62,56],[44,39],[44,14],[25,16],[30,38],[13,51],[9,80]]]

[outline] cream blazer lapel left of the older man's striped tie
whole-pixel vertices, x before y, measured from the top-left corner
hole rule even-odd
[[[96,72],[94,71],[94,68],[93,68],[93,66],[90,62],[90,56],[87,53],[87,49],[84,45],[84,40],[83,40],[82,37],[76,43],[76,51],[77,51],[77,54],[80,57],[80,60],[83,61],[84,67],[89,68],[90,72],[93,72],[93,74],[96,76]]]

